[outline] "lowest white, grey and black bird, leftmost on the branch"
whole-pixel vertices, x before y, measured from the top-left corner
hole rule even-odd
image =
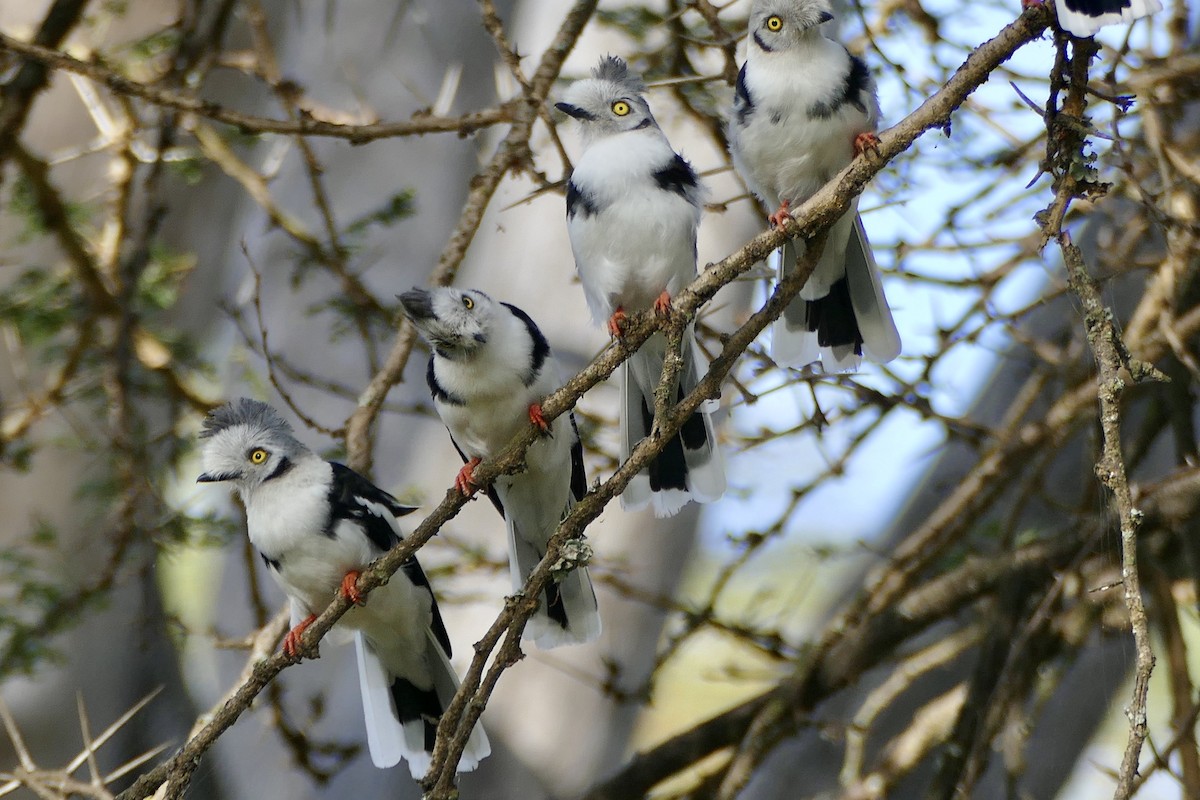
[[[336,591],[354,601],[330,634],[346,640],[353,632],[371,760],[386,768],[407,759],[420,777],[438,718],[458,690],[450,637],[415,558],[366,597],[354,584],[402,539],[396,517],[415,509],[308,450],[266,403],[244,397],[221,405],[204,420],[200,438],[204,474],[197,481],[233,483],[251,545],[292,602],[284,651],[299,655],[300,634]],[[478,726],[458,770],[474,769],[488,752]]]

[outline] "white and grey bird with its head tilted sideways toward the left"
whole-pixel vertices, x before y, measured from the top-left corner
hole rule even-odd
[[[548,425],[541,416],[541,402],[562,386],[550,344],[528,314],[482,291],[413,289],[400,301],[432,350],[426,380],[466,462],[455,480],[461,492],[473,494],[474,468],[527,426],[546,434],[526,452],[524,471],[502,475],[487,487],[504,517],[512,590],[520,591],[546,555],[558,523],[588,491],[575,416],[562,414]],[[526,634],[542,649],[600,636],[600,610],[586,566],[546,587]]]

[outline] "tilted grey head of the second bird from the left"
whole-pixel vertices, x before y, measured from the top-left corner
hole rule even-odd
[[[497,302],[474,289],[413,289],[400,295],[404,315],[444,359],[463,359],[487,344]]]

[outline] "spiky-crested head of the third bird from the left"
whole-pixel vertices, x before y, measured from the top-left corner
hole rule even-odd
[[[600,60],[592,77],[576,80],[554,107],[580,121],[584,142],[625,131],[658,127],[642,97],[646,84],[614,55]]]

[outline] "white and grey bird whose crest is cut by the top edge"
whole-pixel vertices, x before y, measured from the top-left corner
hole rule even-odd
[[[746,60],[726,127],[733,166],[774,209],[781,225],[865,148],[880,119],[875,80],[862,59],[826,38],[827,0],[755,0]],[[780,252],[780,279],[796,267],[803,242]],[[829,229],[821,258],[774,325],[772,356],[785,366],[821,360],[827,371],[854,369],[863,355],[884,363],[900,335],[857,199]]]

